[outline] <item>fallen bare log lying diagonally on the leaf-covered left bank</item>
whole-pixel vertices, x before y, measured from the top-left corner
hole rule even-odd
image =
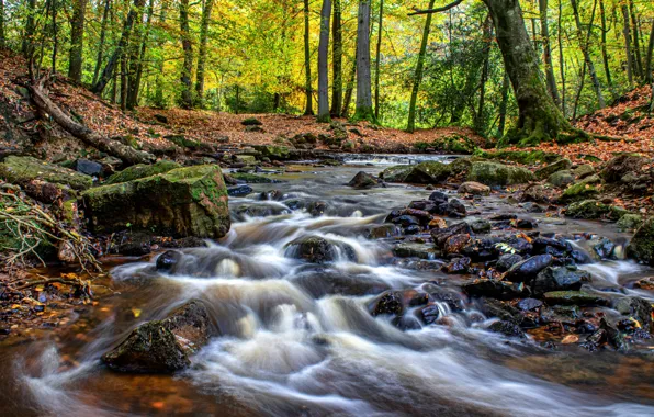
[[[126,165],[135,164],[151,164],[156,160],[153,154],[134,149],[120,142],[111,140],[102,136],[98,132],[75,122],[68,114],[64,113],[57,104],[55,104],[48,97],[45,90],[46,77],[34,80],[30,83],[29,90],[32,101],[38,110],[47,113],[57,122],[66,132],[103,153],[106,153],[116,158],[121,158]]]

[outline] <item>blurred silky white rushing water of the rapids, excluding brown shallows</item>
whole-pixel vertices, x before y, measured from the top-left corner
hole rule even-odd
[[[363,237],[362,232],[381,223],[393,206],[374,198],[365,203],[365,196],[349,190],[338,194],[341,179],[326,190],[289,184],[301,190],[294,198],[342,202],[336,210],[340,215],[315,218],[295,212],[248,218],[234,224],[217,244],[183,250],[170,274],[157,273],[155,259],[114,269],[112,277],[126,301],[93,330],[78,365],[61,370],[53,347],[40,353],[35,365],[15,364],[33,409],[54,415],[132,414],[112,402],[89,404],[84,388],[108,377],[100,354],[136,325],[121,312],[135,303],[144,311],[140,319],[147,320],[201,298],[223,336],[176,379],[210,397],[227,395],[250,415],[654,415],[649,405],[589,395],[503,365],[500,357],[520,358],[540,349],[530,340],[507,341],[485,331],[484,323],[471,318],[480,316],[471,307],[452,313],[443,304],[448,326],[411,331],[372,317],[374,293],[419,289],[430,275],[391,264],[387,244]],[[416,199],[411,193],[403,189],[395,205]],[[232,204],[244,202],[251,200]],[[307,266],[291,259],[287,245],[307,235],[351,246],[357,261],[342,256],[332,263]],[[585,268],[617,285],[621,275],[639,267],[608,262]],[[136,289],[128,290],[131,285]]]

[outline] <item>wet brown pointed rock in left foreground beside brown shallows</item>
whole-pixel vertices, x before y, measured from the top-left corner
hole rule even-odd
[[[173,373],[188,368],[189,359],[208,341],[211,323],[204,304],[192,301],[164,320],[147,322],[115,349],[102,356],[114,371]]]

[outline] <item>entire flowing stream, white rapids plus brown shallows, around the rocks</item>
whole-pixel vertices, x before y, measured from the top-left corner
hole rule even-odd
[[[387,161],[363,170],[377,173]],[[488,320],[473,304],[453,313],[443,303],[440,325],[409,331],[371,316],[370,303],[387,289],[437,286],[458,294],[470,279],[409,268],[393,258],[392,241],[365,237],[391,210],[430,192],[405,185],[352,190],[345,183],[361,170],[352,164],[302,170],[275,177],[283,183],[256,185],[249,198],[230,199],[235,212],[241,204],[268,204],[279,215],[241,217],[219,241],[184,249],[170,274],[157,272],[156,257],[110,260],[116,264],[110,285],[120,294],[80,313],[68,330],[1,348],[1,414],[654,415],[654,362],[646,349],[629,356],[564,346],[552,351],[538,335],[509,340],[486,331]],[[313,217],[259,201],[258,192],[273,189],[286,202],[327,206]],[[520,211],[496,198],[467,204],[481,213]],[[541,232],[625,238],[598,223],[541,221]],[[322,266],[292,259],[287,244],[306,235],[349,245],[356,261],[345,252]],[[650,273],[625,261],[585,268],[607,292]],[[193,298],[210,307],[222,336],[193,358],[191,369],[174,376],[125,375],[101,364],[100,356],[134,326]]]

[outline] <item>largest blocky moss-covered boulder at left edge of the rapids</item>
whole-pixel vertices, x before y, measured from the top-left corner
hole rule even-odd
[[[218,238],[229,230],[227,190],[217,166],[196,166],[82,193],[95,233],[131,228]]]

